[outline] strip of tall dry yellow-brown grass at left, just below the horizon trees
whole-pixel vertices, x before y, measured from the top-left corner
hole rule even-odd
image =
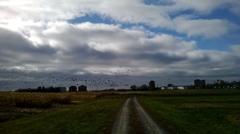
[[[100,93],[18,93],[1,92],[0,106],[23,108],[48,108],[52,104],[69,104],[72,101],[96,98]]]

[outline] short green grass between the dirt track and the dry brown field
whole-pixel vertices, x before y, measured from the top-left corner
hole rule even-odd
[[[3,134],[103,134],[110,133],[115,115],[124,99],[82,100],[75,105],[56,108],[0,123]]]

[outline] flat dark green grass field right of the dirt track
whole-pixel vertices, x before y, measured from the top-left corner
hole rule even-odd
[[[240,95],[148,96],[143,106],[163,127],[179,134],[240,133]]]

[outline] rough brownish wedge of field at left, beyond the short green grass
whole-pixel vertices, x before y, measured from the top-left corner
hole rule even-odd
[[[0,123],[31,116],[69,105],[79,100],[96,98],[95,93],[16,93],[0,92]]]

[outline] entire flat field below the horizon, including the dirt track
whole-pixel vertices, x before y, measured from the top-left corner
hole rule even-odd
[[[0,134],[237,134],[239,90],[0,93]]]

